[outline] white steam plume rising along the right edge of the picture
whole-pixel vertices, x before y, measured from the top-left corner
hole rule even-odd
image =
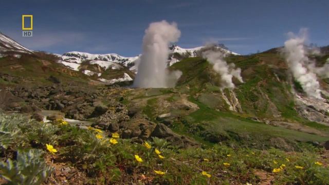
[[[284,43],[283,54],[289,69],[309,97],[321,99],[317,75],[327,78],[329,76],[329,63],[327,62],[323,67],[316,67],[315,61],[307,57],[307,54],[312,53],[312,51],[304,45],[307,40],[306,29],[301,29],[299,35],[291,32],[288,35],[290,39]]]

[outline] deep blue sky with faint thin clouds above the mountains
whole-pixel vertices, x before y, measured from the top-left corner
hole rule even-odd
[[[141,53],[151,22],[176,22],[178,45],[220,42],[249,54],[282,46],[289,31],[309,29],[309,40],[329,45],[329,1],[266,0],[5,0],[0,31],[24,46],[53,53]],[[33,37],[22,37],[22,14],[33,14]]]

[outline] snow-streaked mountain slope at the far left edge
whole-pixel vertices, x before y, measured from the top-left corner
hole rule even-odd
[[[6,52],[33,53],[32,50],[27,49],[0,32],[0,53],[5,54]]]

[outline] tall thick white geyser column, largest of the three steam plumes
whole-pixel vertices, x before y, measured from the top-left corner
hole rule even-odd
[[[151,23],[145,30],[143,52],[138,62],[135,87],[173,87],[181,71],[169,71],[167,61],[169,44],[177,42],[180,31],[176,23]]]

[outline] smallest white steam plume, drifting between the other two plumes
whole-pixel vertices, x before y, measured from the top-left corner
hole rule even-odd
[[[203,57],[206,58],[213,65],[213,69],[221,75],[222,88],[233,89],[235,87],[232,82],[233,77],[243,83],[241,69],[235,69],[233,63],[227,64],[222,52],[208,50],[203,53]]]

